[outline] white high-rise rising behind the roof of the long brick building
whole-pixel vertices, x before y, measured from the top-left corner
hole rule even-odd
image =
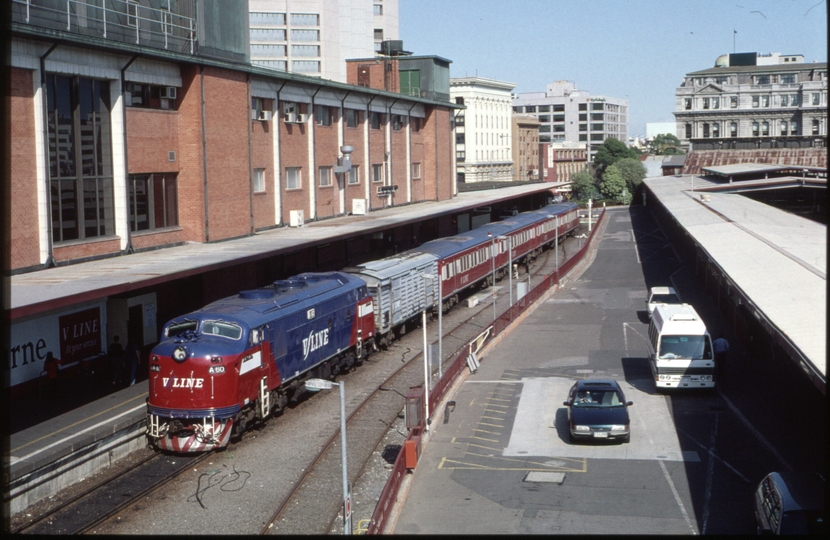
[[[248,0],[251,63],[346,82],[346,59],[398,38],[398,0]]]

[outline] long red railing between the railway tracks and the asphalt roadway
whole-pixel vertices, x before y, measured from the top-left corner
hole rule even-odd
[[[501,314],[501,316],[497,317],[495,321],[493,321],[493,331],[489,333],[486,340],[481,344],[485,345],[493,340],[497,335],[499,335],[505,328],[510,326],[510,324],[516,320],[522,313],[524,313],[527,308],[529,308],[533,303],[538,300],[542,295],[544,295],[548,289],[553,287],[554,285],[559,284],[559,280],[561,276],[566,275],[570,272],[588,253],[588,250],[596,243],[597,239],[597,231],[600,229],[600,225],[602,224],[603,220],[605,219],[605,210],[597,219],[597,222],[591,231],[591,236],[588,238],[588,241],[585,242],[585,245],[582,246],[570,259],[565,261],[556,271],[552,274],[543,278],[527,295],[522,297],[521,300],[513,304],[510,309],[505,311]],[[475,341],[475,340],[474,340]],[[429,410],[435,411],[436,407],[441,403],[441,400],[444,399],[449,388],[461,374],[461,372],[467,367],[467,356],[472,347],[472,342],[464,345],[461,350],[459,351],[458,355],[455,359],[450,363],[449,367],[444,370],[443,375],[441,378],[435,383],[435,386],[430,390],[429,393]],[[423,416],[423,415],[422,415]],[[411,440],[416,437],[420,437],[421,433],[424,430],[424,421],[422,424],[417,427],[413,428],[408,436],[407,440]],[[404,445],[405,446],[405,445]],[[366,534],[383,534],[384,529],[386,528],[389,517],[392,514],[392,510],[397,502],[398,493],[400,491],[401,484],[403,483],[403,479],[406,476],[406,460],[404,458],[403,447],[401,452],[398,453],[398,457],[395,459],[395,464],[392,467],[392,473],[389,475],[389,479],[386,482],[386,486],[384,486],[383,491],[380,494],[380,499],[378,500],[377,506],[375,506],[375,511],[372,514],[372,520],[369,523],[369,527],[366,530]]]

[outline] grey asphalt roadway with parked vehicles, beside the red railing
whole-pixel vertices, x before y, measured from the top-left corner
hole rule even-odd
[[[672,249],[647,209],[608,217],[591,265],[494,345],[448,396],[454,407],[445,401],[433,415],[394,533],[751,534],[766,473],[824,471],[823,397],[797,373],[749,362],[694,259]],[[732,343],[715,391],[655,391],[644,300],[666,284]],[[621,383],[634,402],[630,443],[568,442],[562,401],[581,378]],[[793,407],[813,412],[794,419]]]

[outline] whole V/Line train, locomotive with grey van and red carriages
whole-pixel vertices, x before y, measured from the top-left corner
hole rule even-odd
[[[177,317],[150,354],[147,434],[175,452],[224,447],[251,422],[282,410],[307,379],[362,363],[424,309],[437,309],[439,279],[447,310],[463,290],[489,285],[511,259],[536,257],[578,224],[575,204],[550,205]]]

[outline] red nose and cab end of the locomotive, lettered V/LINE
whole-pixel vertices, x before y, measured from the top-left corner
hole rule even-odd
[[[147,433],[156,447],[220,448],[244,429],[246,410],[267,396],[268,381],[279,384],[254,334],[227,319],[168,324],[150,355]]]

